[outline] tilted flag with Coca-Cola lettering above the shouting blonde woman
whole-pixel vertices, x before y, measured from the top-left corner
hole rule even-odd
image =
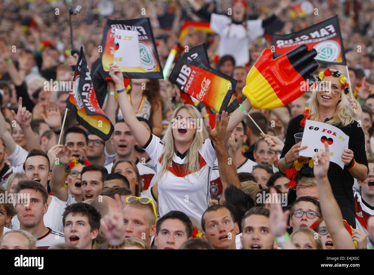
[[[204,64],[178,57],[169,80],[211,109],[227,109],[237,81]]]

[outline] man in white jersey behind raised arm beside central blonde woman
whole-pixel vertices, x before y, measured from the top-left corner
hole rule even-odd
[[[235,137],[235,144],[236,144],[236,153],[235,153],[235,164],[237,172],[248,172],[251,173],[253,166],[257,163],[251,161],[250,159],[246,158],[243,155],[242,146],[243,143],[247,141],[247,135],[245,134],[245,123],[244,121],[240,122],[234,129],[233,134]],[[222,195],[222,183],[220,178],[220,173],[218,170],[218,161],[214,162],[214,166],[212,168],[212,175],[211,175],[211,182],[209,186],[210,195],[212,198],[220,198]]]

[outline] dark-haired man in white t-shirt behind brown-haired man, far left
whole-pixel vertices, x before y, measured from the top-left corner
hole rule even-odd
[[[47,182],[51,177],[49,172],[49,159],[42,150],[33,149],[27,156],[24,164],[24,177],[26,180],[34,180],[42,184],[47,192]],[[44,223],[47,227],[54,230],[62,231],[62,214],[64,213],[66,203],[56,198],[55,196],[48,196],[48,209],[44,215]],[[20,228],[17,217],[13,220],[13,229]]]

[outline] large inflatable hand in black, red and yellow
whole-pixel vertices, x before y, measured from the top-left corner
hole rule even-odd
[[[287,54],[272,59],[272,51],[265,49],[247,75],[243,95],[255,109],[285,106],[309,89],[311,74],[318,68],[315,49],[308,51],[301,45]],[[303,89],[301,87],[304,87]]]

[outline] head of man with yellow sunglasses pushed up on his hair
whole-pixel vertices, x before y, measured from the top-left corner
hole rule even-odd
[[[157,213],[153,200],[145,197],[128,197],[123,209],[123,234],[125,238],[142,239],[151,246],[156,235]]]

